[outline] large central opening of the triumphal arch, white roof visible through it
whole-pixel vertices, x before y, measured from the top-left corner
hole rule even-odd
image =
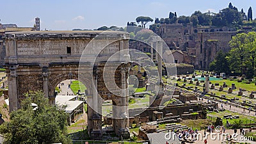
[[[79,121],[81,129],[87,125],[87,99],[88,90],[81,81],[66,79],[55,87],[55,103],[68,114],[68,124]],[[72,127],[70,127],[72,129]]]

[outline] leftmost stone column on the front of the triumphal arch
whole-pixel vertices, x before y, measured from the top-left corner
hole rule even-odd
[[[8,76],[8,96],[9,96],[9,111],[19,109],[19,101],[17,95],[17,72],[16,66],[10,67],[10,74]]]

